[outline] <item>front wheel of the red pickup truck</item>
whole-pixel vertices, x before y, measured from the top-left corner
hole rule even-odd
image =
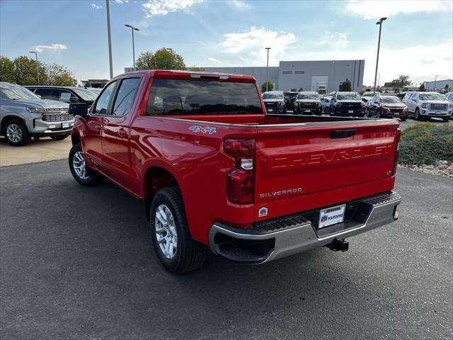
[[[80,144],[74,145],[69,151],[69,170],[82,186],[96,186],[103,181],[103,176],[86,166],[85,155]]]

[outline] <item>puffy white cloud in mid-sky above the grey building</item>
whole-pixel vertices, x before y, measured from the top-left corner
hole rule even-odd
[[[251,27],[241,33],[224,34],[225,40],[222,42],[222,50],[236,55],[244,62],[253,62],[259,65],[265,62],[267,52],[265,47],[271,47],[270,64],[277,64],[280,57],[285,55],[289,45],[297,41],[292,33],[277,32],[267,30],[263,27]]]

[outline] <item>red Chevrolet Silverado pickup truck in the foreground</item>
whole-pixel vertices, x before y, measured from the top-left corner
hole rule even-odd
[[[398,121],[266,115],[253,77],[141,71],[77,115],[69,167],[142,200],[164,267],[265,263],[398,218]]]

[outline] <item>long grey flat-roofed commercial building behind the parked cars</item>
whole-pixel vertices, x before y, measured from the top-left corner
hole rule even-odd
[[[328,91],[338,91],[340,83],[348,79],[352,91],[361,91],[365,60],[320,60],[280,62],[278,67],[269,67],[268,79],[276,90],[316,91],[326,84]],[[207,72],[248,74],[256,78],[259,85],[266,80],[266,67],[205,67]]]

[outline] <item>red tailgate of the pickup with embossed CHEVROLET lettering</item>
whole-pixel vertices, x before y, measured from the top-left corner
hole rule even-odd
[[[397,128],[396,120],[261,126],[256,220],[391,191]]]

